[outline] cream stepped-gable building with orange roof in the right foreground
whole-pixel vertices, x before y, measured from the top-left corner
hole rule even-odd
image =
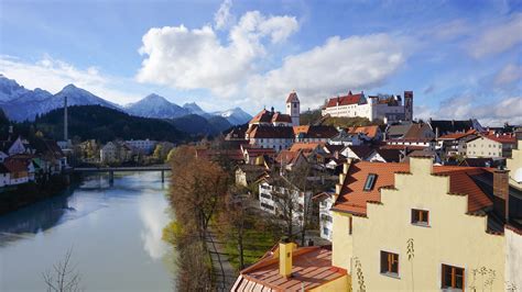
[[[521,210],[503,211],[512,191],[507,171],[412,157],[410,165],[352,162],[340,179],[331,263],[351,274],[354,290],[504,291],[519,283],[512,257],[522,240],[511,224]]]

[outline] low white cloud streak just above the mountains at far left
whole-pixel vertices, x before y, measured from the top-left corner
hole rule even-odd
[[[115,89],[113,86],[121,80],[100,74],[96,67],[78,69],[50,56],[44,56],[36,63],[28,63],[0,55],[0,74],[17,80],[28,89],[42,88],[51,93],[56,93],[65,86],[74,83],[100,98],[120,104],[140,98],[135,92],[130,93]]]

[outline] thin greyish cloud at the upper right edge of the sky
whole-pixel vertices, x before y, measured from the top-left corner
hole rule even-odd
[[[522,43],[522,13],[514,14],[508,22],[487,29],[468,44],[471,56],[481,58],[505,52]]]

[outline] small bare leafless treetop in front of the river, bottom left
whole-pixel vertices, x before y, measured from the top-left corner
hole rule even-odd
[[[79,288],[80,276],[70,263],[72,249],[68,249],[62,261],[53,265],[53,269],[43,273],[47,292],[76,292]]]

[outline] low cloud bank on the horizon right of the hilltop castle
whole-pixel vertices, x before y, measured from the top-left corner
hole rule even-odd
[[[522,97],[511,97],[499,102],[477,104],[475,97],[465,94],[446,99],[437,110],[427,106],[416,106],[414,114],[417,119],[477,119],[482,125],[500,126],[505,122],[522,124]]]

